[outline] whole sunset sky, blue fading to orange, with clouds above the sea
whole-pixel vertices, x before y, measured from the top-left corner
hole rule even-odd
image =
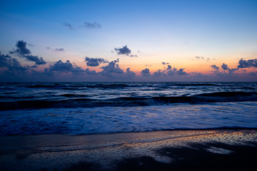
[[[257,1],[0,1],[0,81],[257,81]]]

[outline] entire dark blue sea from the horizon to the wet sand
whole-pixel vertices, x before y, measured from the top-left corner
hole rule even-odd
[[[0,83],[0,135],[257,128],[256,82]]]

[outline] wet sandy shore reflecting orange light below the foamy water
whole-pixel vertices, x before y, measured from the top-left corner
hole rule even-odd
[[[0,170],[255,170],[257,130],[0,138]]]

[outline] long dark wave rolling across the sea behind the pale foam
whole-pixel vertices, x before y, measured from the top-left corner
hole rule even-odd
[[[257,101],[256,92],[215,92],[197,95],[156,96],[156,97],[119,97],[119,98],[86,98],[86,95],[63,94],[64,100],[16,100],[0,103],[0,110],[30,108],[91,108],[104,106],[144,106],[163,105],[168,103],[219,103]]]

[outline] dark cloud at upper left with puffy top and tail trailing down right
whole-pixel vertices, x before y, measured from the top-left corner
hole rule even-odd
[[[29,48],[26,48],[25,41],[17,41],[16,43],[16,50],[10,51],[11,54],[16,53],[20,58],[26,58],[27,61],[33,61],[36,65],[44,65],[46,61],[42,57],[39,56],[32,56],[31,51]]]

